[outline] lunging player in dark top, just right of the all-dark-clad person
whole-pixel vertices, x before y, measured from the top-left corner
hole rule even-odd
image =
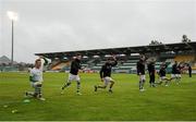
[[[161,85],[162,82],[166,82],[164,86],[169,85],[170,78],[166,77],[166,73],[167,73],[166,69],[167,69],[167,65],[162,63],[159,71],[159,85]]]

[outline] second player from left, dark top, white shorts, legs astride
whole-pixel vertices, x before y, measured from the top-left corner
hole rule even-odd
[[[81,89],[81,78],[79,78],[79,75],[78,75],[78,71],[81,69],[81,59],[82,59],[82,56],[77,54],[76,58],[72,61],[69,78],[68,78],[68,82],[62,86],[61,94],[63,94],[64,88],[66,88],[68,86],[71,85],[72,81],[76,81],[77,82],[76,94],[77,95],[82,95],[79,93],[79,89]]]

